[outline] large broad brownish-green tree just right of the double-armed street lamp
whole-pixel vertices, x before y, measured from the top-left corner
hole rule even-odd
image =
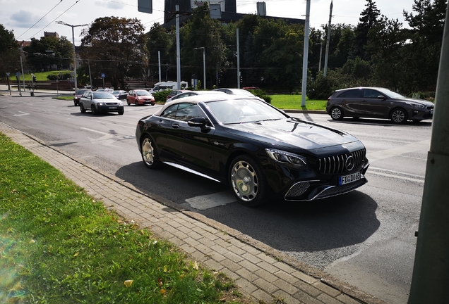
[[[141,77],[148,67],[145,27],[136,18],[97,18],[83,30],[80,56],[90,64],[92,75],[105,79],[114,88],[124,87],[126,77]]]

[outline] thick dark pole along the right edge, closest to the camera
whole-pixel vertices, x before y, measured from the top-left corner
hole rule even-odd
[[[446,19],[449,17],[449,4]],[[409,304],[449,303],[449,23],[444,24]]]

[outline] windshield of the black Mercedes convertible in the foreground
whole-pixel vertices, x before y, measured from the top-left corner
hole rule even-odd
[[[215,118],[224,125],[286,118],[268,103],[253,99],[210,101],[207,104]]]

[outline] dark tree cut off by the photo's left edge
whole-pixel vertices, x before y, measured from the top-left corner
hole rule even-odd
[[[6,72],[14,73],[20,68],[20,53],[13,31],[0,24],[0,77]]]

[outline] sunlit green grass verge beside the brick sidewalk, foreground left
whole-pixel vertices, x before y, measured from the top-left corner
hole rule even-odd
[[[0,253],[0,303],[246,303],[1,133]]]

